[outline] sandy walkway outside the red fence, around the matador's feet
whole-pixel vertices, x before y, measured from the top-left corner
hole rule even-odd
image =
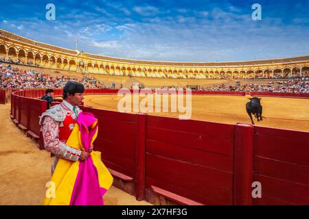
[[[39,151],[10,120],[10,104],[0,105],[0,205],[41,205],[50,179],[52,157]],[[106,205],[150,205],[115,187],[104,196]]]

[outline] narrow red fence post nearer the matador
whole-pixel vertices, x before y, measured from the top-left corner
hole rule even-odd
[[[146,114],[137,114],[137,145],[135,155],[136,200],[145,199]]]

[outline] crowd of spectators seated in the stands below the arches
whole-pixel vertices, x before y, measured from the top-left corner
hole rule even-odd
[[[102,83],[95,77],[84,75],[78,80],[76,77],[56,76],[38,72],[36,70],[21,70],[12,68],[10,64],[0,63],[0,86],[1,88],[62,88],[67,81],[79,81],[84,84],[87,89],[108,88],[115,89],[116,84],[112,82]],[[120,86],[122,87],[122,85]],[[136,87],[136,86],[135,86]],[[133,88],[133,86],[131,86]],[[144,84],[139,83],[138,88],[145,88]],[[163,89],[179,88],[178,86],[163,86]],[[187,86],[185,89],[189,89]],[[194,90],[206,91],[236,91],[236,92],[291,92],[291,93],[309,93],[309,75],[303,77],[295,77],[293,79],[282,79],[276,81],[267,81],[265,83],[240,83],[236,81],[235,85],[213,84],[209,87],[190,88]]]

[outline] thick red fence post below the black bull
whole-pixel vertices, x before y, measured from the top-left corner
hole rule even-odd
[[[234,140],[233,205],[252,205],[253,126],[237,123]]]

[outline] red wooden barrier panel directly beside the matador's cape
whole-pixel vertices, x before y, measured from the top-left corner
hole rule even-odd
[[[93,113],[99,120],[100,135],[93,144],[102,152],[104,164],[114,171],[115,177],[127,182],[123,189],[135,195],[137,115],[91,107],[84,107],[84,111]]]

